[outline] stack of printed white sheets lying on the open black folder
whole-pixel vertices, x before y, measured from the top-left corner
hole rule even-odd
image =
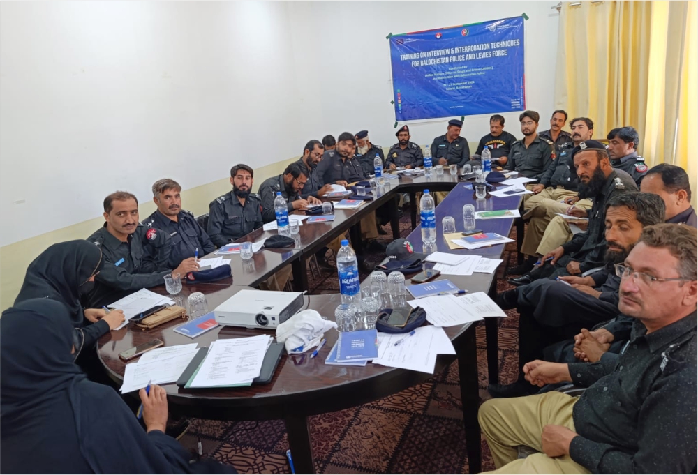
[[[269,345],[269,335],[217,340],[191,387],[208,388],[248,382],[260,375]]]

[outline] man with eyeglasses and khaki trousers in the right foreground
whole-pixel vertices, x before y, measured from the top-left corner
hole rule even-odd
[[[484,402],[494,473],[695,472],[697,238],[685,225],[646,227],[618,266],[618,308],[634,322],[617,360],[524,366],[535,386],[588,386],[579,398],[550,391]],[[520,445],[542,453],[517,459]]]

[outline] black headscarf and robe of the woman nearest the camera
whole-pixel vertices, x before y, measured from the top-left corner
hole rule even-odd
[[[67,314],[61,303],[30,299],[0,318],[3,472],[196,470],[179,442],[160,431],[146,434],[113,389],[89,381],[73,363]]]

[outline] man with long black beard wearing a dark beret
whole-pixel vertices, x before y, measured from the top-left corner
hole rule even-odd
[[[512,285],[526,285],[540,278],[576,276],[596,267],[602,267],[606,248],[604,220],[606,204],[615,195],[637,191],[632,176],[611,167],[611,160],[604,144],[597,140],[584,140],[572,150],[572,161],[579,177],[579,197],[593,198],[588,212],[571,207],[567,214],[588,216],[586,232],[575,234],[571,241],[551,250],[540,259],[533,271],[510,279]],[[548,230],[546,229],[545,234]],[[545,234],[543,239],[545,239]]]

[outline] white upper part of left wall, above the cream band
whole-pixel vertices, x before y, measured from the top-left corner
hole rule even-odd
[[[165,176],[297,155],[286,9],[1,2],[0,245],[100,216],[117,189],[144,201]]]

